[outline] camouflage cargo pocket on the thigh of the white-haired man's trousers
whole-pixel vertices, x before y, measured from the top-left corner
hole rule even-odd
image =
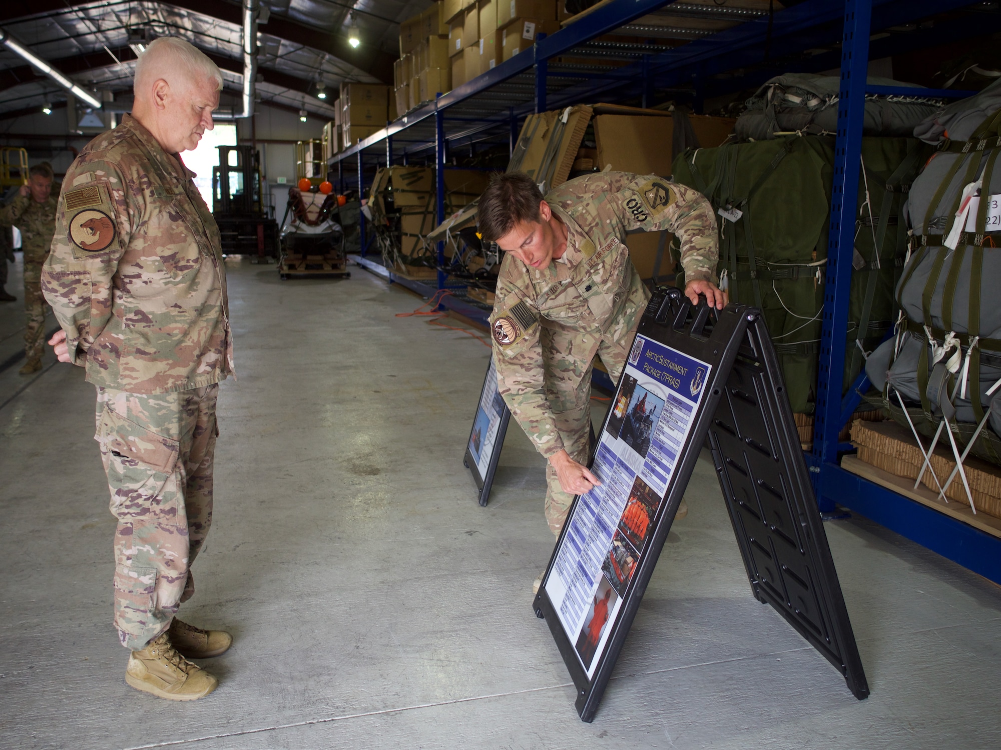
[[[164,493],[171,480],[180,441],[157,435],[105,406],[94,439],[105,454],[111,512],[120,520],[138,515],[176,515],[176,491]],[[166,496],[165,496],[166,495]]]

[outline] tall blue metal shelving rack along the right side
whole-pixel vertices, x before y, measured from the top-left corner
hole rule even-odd
[[[715,33],[670,26],[633,24],[648,14],[701,16],[734,25]],[[706,99],[760,85],[784,72],[841,69],[835,176],[828,243],[827,281],[812,452],[807,454],[822,510],[841,505],[924,545],[940,555],[1001,583],[1001,538],[941,514],[908,497],[842,469],[851,449],[838,435],[858,405],[853,383],[842,398],[848,295],[852,275],[859,158],[865,96],[907,94],[956,97],[963,92],[895,91],[866,85],[870,59],[947,44],[1001,30],[996,2],[969,0],[805,0],[770,14],[727,6],[688,5],[666,0],[613,0],[559,32],[540,39],[467,83],[438,96],[338,153],[331,160],[341,185],[363,190],[366,169],[415,159],[437,166],[437,218],[444,218],[443,171],[449,149],[508,142],[514,147],[519,123],[532,112],[581,102],[634,101],[651,106],[686,98],[697,112]],[[609,41],[608,34],[654,37],[646,44]],[[602,37],[602,39],[599,39]],[[676,46],[657,44],[670,39]],[[572,58],[575,62],[567,62]],[[613,58],[619,67],[581,60]],[[446,130],[447,128],[447,130]],[[353,165],[355,180],[346,166]],[[392,274],[365,253],[359,262],[386,278],[430,296],[446,287]],[[439,261],[441,247],[438,248]],[[445,296],[442,306],[472,320],[486,311],[467,300]],[[608,385],[608,384],[606,384]]]

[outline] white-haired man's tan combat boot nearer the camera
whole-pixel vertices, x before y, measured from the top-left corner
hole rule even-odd
[[[178,654],[166,633],[129,655],[125,682],[168,701],[198,700],[219,685],[215,677]]]

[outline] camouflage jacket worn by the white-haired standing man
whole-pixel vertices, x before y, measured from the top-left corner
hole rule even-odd
[[[66,173],[42,284],[95,385],[167,393],[233,371],[219,230],[193,176],[127,115]]]

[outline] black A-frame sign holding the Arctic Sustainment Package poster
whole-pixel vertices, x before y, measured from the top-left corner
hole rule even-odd
[[[869,695],[761,312],[658,288],[535,599],[592,721],[707,438],[752,593]]]

